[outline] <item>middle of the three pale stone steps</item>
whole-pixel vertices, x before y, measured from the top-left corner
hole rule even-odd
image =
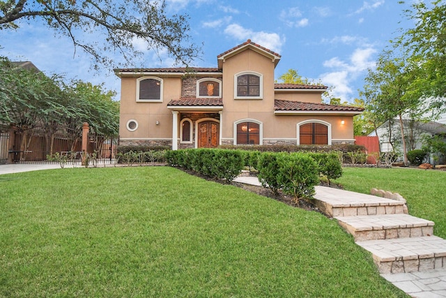
[[[335,217],[355,241],[423,237],[433,235],[433,221],[408,214]]]

